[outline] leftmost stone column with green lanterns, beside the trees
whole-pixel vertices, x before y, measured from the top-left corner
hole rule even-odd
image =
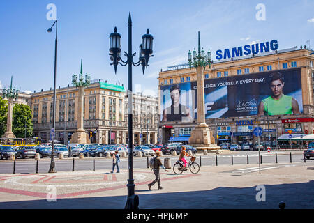
[[[11,76],[10,89],[3,89],[3,98],[8,98],[8,118],[6,121],[6,133],[3,138],[15,138],[12,132],[12,119],[13,119],[13,100],[17,100],[19,90],[12,88],[13,76]]]

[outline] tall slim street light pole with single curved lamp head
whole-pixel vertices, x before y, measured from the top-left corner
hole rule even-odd
[[[49,173],[56,173],[55,162],[54,162],[54,138],[56,136],[56,77],[57,77],[57,38],[58,38],[58,22],[57,20],[52,24],[52,26],[47,30],[48,33],[52,32],[53,26],[56,25],[56,40],[54,42],[54,100],[53,100],[53,112],[52,112],[52,151],[51,151],[51,162]]]

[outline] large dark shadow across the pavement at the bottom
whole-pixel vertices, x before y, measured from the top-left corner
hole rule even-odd
[[[140,209],[278,209],[278,203],[285,202],[286,209],[314,208],[314,180],[305,183],[283,183],[264,185],[264,201],[260,197],[262,190],[253,187],[217,187],[212,190],[188,192],[163,192],[154,190],[149,194],[138,194],[147,190],[137,190]],[[94,196],[94,194],[90,194]],[[13,195],[14,196],[14,195]],[[31,197],[27,197],[29,199]],[[0,209],[124,209],[127,196],[67,198],[48,202],[46,199],[31,201],[1,202]],[[259,201],[257,201],[259,200]],[[152,202],[154,201],[154,202]]]

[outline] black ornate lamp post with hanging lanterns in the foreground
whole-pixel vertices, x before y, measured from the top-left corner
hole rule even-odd
[[[142,65],[144,74],[145,68],[149,63],[149,57],[153,53],[153,36],[147,33],[142,36],[142,44],[140,45],[139,61],[133,62],[136,53],[132,52],[132,20],[130,13],[128,15],[128,52],[124,52],[127,57],[126,62],[121,59],[121,35],[117,33],[117,27],[114,27],[114,33],[110,34],[110,59],[111,65],[114,66],[114,72],[117,73],[118,63],[121,66],[128,65],[128,200],[126,201],[126,209],[138,208],[138,196],[135,195],[135,184],[133,179],[133,99],[132,99],[132,66]]]

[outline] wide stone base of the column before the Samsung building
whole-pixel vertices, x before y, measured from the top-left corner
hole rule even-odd
[[[211,130],[209,130],[206,123],[201,123],[197,125],[192,132],[190,132],[190,139],[188,139],[188,144],[195,147],[197,151],[216,151],[220,149],[220,146],[212,143],[215,142]]]

